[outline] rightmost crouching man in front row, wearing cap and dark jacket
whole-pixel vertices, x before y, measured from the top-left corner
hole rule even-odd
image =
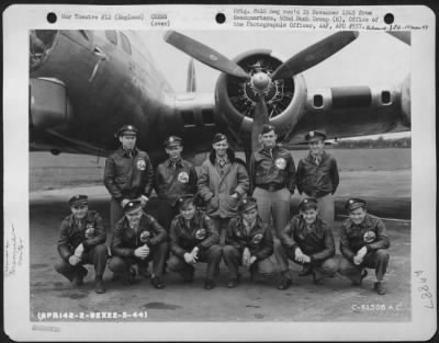
[[[350,278],[353,285],[361,285],[368,275],[365,268],[374,268],[376,282],[373,289],[384,295],[386,289],[383,278],[390,260],[390,240],[384,222],[369,215],[365,206],[365,201],[360,198],[346,202],[349,218],[341,228],[340,251],[344,259],[339,272]]]

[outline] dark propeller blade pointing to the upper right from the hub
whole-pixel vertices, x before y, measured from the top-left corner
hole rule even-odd
[[[274,70],[271,79],[274,81],[279,79],[292,78],[296,73],[314,67],[338,50],[342,49],[357,37],[358,32],[356,31],[337,32],[329,37],[326,37],[325,39],[322,39],[316,44],[303,49],[289,60],[284,61],[278,67],[278,69]]]

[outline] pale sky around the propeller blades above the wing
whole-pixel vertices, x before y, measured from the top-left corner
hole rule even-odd
[[[162,31],[140,36],[165,78],[178,93],[185,92],[190,57],[167,44]],[[325,38],[328,32],[180,31],[230,59],[255,49],[268,48],[288,59]],[[323,62],[303,72],[309,89],[337,85],[396,85],[409,73],[410,47],[384,32],[360,32],[359,37]],[[219,72],[195,61],[198,92],[213,92]],[[401,134],[398,134],[401,135]],[[407,136],[407,133],[403,136]]]

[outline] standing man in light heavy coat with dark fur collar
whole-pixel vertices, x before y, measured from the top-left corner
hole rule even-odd
[[[201,165],[198,190],[219,233],[219,244],[224,245],[230,218],[238,214],[238,205],[247,195],[249,178],[245,163],[235,158],[228,147],[227,137],[216,134],[213,150]]]

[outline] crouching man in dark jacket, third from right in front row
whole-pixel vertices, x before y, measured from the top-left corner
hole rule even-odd
[[[269,259],[272,253],[271,228],[259,217],[256,198],[247,197],[239,205],[239,216],[228,225],[226,245],[223,248],[224,262],[229,271],[227,287],[237,286],[239,265],[249,267],[252,278],[255,273],[273,277],[275,270]]]

